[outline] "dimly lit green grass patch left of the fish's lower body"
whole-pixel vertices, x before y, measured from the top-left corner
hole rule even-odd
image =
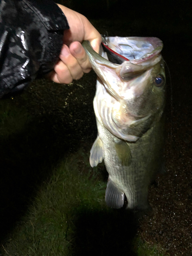
[[[84,176],[79,172],[79,159],[73,156],[54,168],[48,182],[39,187],[28,214],[15,228],[7,243],[7,251],[14,255],[70,255],[77,212],[90,210],[103,201],[105,184],[97,175]],[[92,176],[92,177],[91,177]],[[96,198],[95,198],[96,197]]]

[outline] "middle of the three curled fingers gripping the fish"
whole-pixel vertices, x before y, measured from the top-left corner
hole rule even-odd
[[[83,75],[83,71],[77,61],[77,59],[71,54],[68,46],[63,45],[60,54],[60,60],[67,66],[73,79],[80,79]]]

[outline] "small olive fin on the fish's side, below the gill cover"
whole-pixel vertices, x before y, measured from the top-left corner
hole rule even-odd
[[[115,141],[115,151],[123,166],[130,166],[132,153],[129,145],[122,140]]]

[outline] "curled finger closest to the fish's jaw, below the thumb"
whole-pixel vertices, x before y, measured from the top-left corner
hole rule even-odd
[[[69,47],[71,54],[77,59],[82,71],[84,73],[89,73],[91,70],[91,63],[89,61],[88,55],[80,42],[72,42]]]

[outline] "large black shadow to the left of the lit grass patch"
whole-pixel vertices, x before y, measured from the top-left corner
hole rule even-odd
[[[53,122],[48,118],[30,120],[22,131],[0,137],[0,242],[25,214],[58,160],[68,153],[69,127],[60,127],[61,137],[61,131],[54,131]],[[78,141],[77,135],[73,134],[73,139]]]

